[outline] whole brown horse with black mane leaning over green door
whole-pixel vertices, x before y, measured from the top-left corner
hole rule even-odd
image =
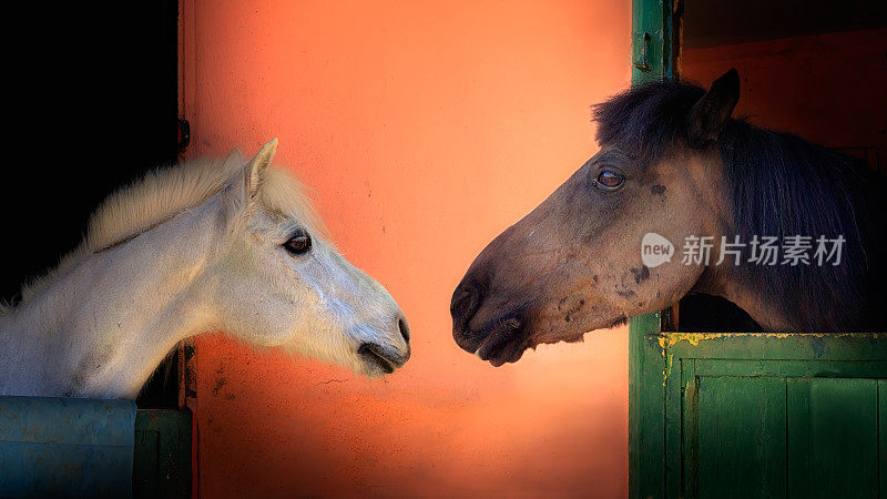
[[[731,70],[707,92],[651,83],[595,106],[598,154],[456,288],[456,343],[499,366],[689,293],[766,330],[884,329],[885,179],[733,119],[738,98]]]

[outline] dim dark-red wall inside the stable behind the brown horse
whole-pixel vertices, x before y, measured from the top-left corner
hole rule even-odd
[[[686,50],[681,69],[707,86],[736,68],[735,115],[827,147],[870,147],[869,164],[877,160],[887,173],[885,53],[887,29],[879,29]]]

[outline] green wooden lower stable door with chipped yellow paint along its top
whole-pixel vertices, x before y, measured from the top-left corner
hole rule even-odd
[[[664,488],[643,497],[877,498],[887,492],[887,336],[653,335]],[[653,492],[649,490],[648,492]]]

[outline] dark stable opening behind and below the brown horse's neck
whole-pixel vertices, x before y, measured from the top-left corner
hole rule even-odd
[[[887,2],[683,0],[681,78],[742,78],[734,115],[839,150],[887,174]],[[732,303],[681,301],[681,332],[757,332]]]

